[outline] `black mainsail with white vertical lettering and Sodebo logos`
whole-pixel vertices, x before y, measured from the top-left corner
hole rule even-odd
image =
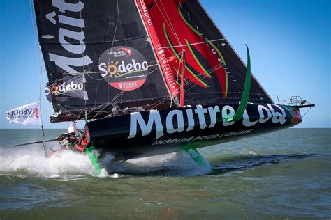
[[[132,0],[34,0],[53,121],[158,107],[170,94]],[[168,106],[168,104],[167,104]]]

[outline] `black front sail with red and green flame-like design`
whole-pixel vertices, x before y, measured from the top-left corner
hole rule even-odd
[[[184,75],[185,104],[240,101],[247,68],[197,0],[138,0],[137,4],[141,12],[148,10],[178,86]],[[272,103],[254,77],[249,102]]]

